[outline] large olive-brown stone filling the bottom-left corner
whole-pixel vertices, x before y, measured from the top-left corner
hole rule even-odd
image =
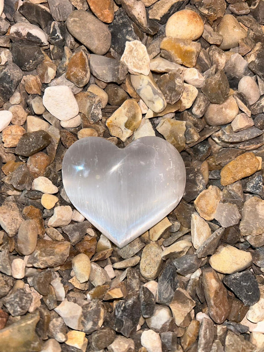
[[[28,352],[41,350],[41,340],[36,334],[36,325],[40,320],[38,313],[28,314],[20,320],[0,330],[0,345],[3,352]],[[12,348],[10,347],[12,340]]]

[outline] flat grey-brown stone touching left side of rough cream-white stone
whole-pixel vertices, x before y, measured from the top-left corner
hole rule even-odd
[[[95,54],[90,56],[90,69],[91,73],[100,81],[118,84],[124,81],[128,71],[122,61]]]

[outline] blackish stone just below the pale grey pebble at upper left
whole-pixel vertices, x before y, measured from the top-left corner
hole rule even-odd
[[[33,45],[13,43],[11,53],[13,62],[23,71],[34,70],[44,58],[41,48]]]

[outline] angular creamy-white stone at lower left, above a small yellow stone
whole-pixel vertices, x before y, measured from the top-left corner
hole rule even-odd
[[[54,310],[69,328],[81,330],[82,308],[77,303],[65,299]]]

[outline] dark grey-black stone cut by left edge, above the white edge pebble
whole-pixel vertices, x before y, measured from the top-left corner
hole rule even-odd
[[[13,95],[23,73],[13,62],[7,61],[0,65],[0,106]]]

